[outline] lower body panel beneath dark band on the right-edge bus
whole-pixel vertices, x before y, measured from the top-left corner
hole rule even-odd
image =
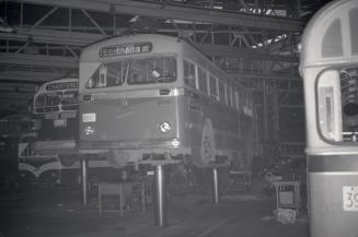
[[[357,236],[358,197],[343,190],[358,187],[358,173],[309,173],[308,183],[311,236]],[[350,204],[355,211],[345,211]]]

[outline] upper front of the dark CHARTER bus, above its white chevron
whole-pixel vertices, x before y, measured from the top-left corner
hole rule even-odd
[[[37,128],[32,149],[35,153],[74,154],[78,140],[78,79],[56,80],[39,87],[34,97],[34,117]]]

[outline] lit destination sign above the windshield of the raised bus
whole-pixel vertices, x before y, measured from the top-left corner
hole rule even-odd
[[[115,57],[123,55],[146,54],[152,50],[151,43],[134,43],[125,45],[106,46],[100,49],[100,58]]]

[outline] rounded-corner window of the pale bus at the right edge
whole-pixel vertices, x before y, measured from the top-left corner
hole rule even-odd
[[[324,139],[356,142],[358,138],[358,68],[326,70],[317,79],[319,128]]]

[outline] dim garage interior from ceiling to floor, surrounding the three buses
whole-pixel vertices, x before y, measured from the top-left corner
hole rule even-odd
[[[0,132],[13,140],[10,146],[1,142],[0,236],[309,236],[299,44],[311,16],[327,2],[1,1]],[[74,185],[19,181],[19,137],[28,128],[16,126],[32,114],[38,86],[79,76],[88,45],[142,33],[189,42],[253,93],[259,147],[251,171],[220,179],[216,197],[217,169],[201,170],[201,186],[183,186],[186,177],[166,168],[165,220],[153,204],[154,169],[130,185],[89,180],[83,187],[83,173],[91,173],[81,170],[85,164],[72,177]],[[132,170],[120,175],[127,173]]]

